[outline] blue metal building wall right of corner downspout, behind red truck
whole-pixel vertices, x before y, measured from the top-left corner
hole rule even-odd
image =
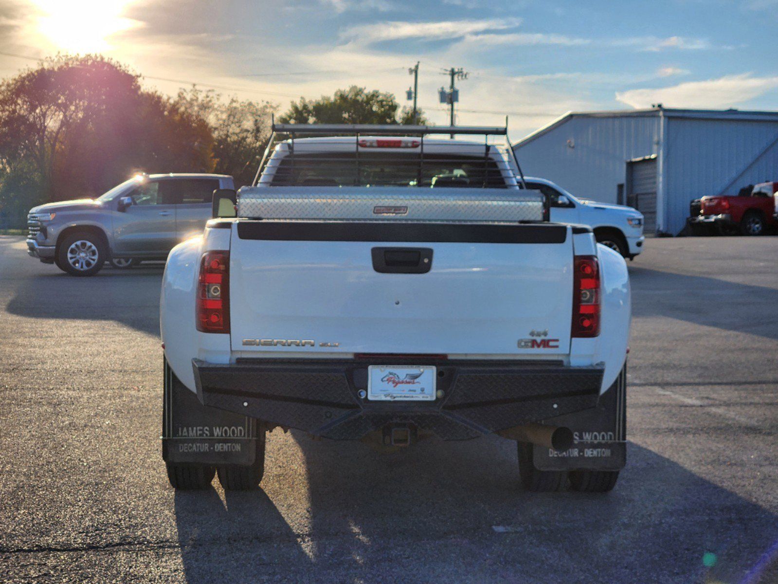
[[[737,195],[741,187],[778,180],[778,121],[668,117],[665,230],[677,234],[689,202]]]

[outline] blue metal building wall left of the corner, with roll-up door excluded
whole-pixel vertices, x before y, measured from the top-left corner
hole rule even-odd
[[[516,154],[524,174],[547,178],[573,195],[616,202],[626,161],[657,153],[659,116],[584,117],[538,135]],[[567,145],[573,140],[573,148]]]

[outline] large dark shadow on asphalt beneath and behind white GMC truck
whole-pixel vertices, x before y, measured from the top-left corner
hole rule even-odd
[[[518,486],[514,443],[500,438],[429,439],[379,454],[358,442],[293,436],[310,508],[283,512],[305,527],[292,533],[261,491],[228,494],[226,505],[215,491],[177,494],[188,582],[778,577],[776,515],[634,443],[615,491],[532,494]],[[305,487],[268,484],[277,472],[268,471],[269,491]]]

